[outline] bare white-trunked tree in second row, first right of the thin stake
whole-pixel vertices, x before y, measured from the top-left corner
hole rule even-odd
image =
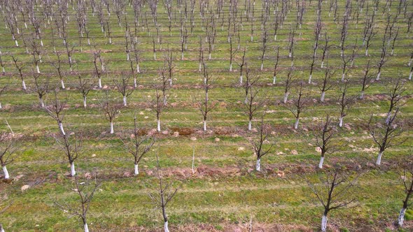
[[[248,138],[248,141],[253,147],[253,152],[257,157],[257,164],[255,166],[255,171],[261,171],[261,158],[266,154],[269,154],[272,147],[274,146],[273,142],[268,141],[269,129],[266,124],[264,124],[264,115],[261,116],[261,122],[258,126],[258,136],[252,136]],[[269,147],[265,145],[270,143]]]

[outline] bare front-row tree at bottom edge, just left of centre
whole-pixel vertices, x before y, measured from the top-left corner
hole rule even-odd
[[[155,176],[158,179],[158,183],[159,183],[158,191],[156,191],[155,193],[148,193],[148,195],[149,195],[149,198],[151,198],[151,201],[153,205],[155,206],[155,208],[162,209],[162,217],[164,219],[164,231],[169,232],[167,205],[173,200],[179,188],[175,187],[174,182],[165,181],[165,178],[163,177],[161,170],[160,170],[158,154],[156,154]]]

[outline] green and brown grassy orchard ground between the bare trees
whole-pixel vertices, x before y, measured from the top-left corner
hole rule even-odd
[[[38,15],[43,12],[43,6],[38,1]],[[114,89],[112,78],[120,71],[130,71],[130,61],[126,60],[125,52],[125,20],[118,25],[115,10],[109,17],[111,24],[111,41],[102,33],[97,14],[92,15],[89,1],[87,3],[87,28],[90,37],[94,38],[97,48],[102,50],[102,59],[105,63],[106,74],[103,75],[102,85],[109,89],[113,99],[122,101],[122,96]],[[97,1],[101,2],[101,1]],[[111,7],[114,8],[113,2]],[[248,3],[248,1],[245,1]],[[279,2],[279,1],[276,1]],[[387,87],[395,78],[407,80],[410,66],[407,66],[413,48],[413,34],[407,34],[407,22],[413,11],[412,1],[407,1],[406,16],[400,14],[395,27],[400,31],[395,42],[393,55],[388,54],[387,61],[381,71],[380,80],[371,83],[365,92],[365,99],[357,99],[344,117],[344,126],[339,128],[335,141],[344,145],[342,149],[327,154],[323,170],[318,167],[320,153],[316,151],[315,140],[311,128],[313,124],[321,122],[326,114],[332,115],[338,123],[339,85],[341,79],[342,58],[340,57],[339,41],[342,30],[342,17],[345,1],[338,1],[337,21],[333,21],[333,13],[329,14],[330,1],[323,1],[321,21],[322,34],[327,33],[330,40],[330,55],[328,66],[337,69],[332,78],[335,85],[325,94],[325,101],[320,102],[321,92],[318,89],[323,80],[325,68],[321,65],[321,49],[318,48],[316,65],[312,76],[312,83],[307,84],[309,67],[314,45],[314,25],[316,24],[316,1],[304,1],[305,11],[302,27],[297,28],[294,44],[295,84],[289,99],[297,94],[295,87],[300,80],[304,81],[305,99],[307,108],[300,118],[300,126],[293,129],[295,118],[290,113],[283,99],[283,81],[290,67],[288,57],[289,31],[295,27],[297,10],[295,1],[287,1],[290,10],[283,21],[282,28],[277,32],[274,41],[274,29],[269,26],[267,52],[264,68],[261,65],[261,13],[263,1],[255,1],[255,18],[253,27],[253,41],[251,41],[251,17],[246,21],[244,1],[239,1],[237,24],[239,25],[240,49],[235,54],[232,71],[230,68],[230,45],[228,36],[228,15],[230,2],[223,3],[222,18],[217,17],[216,42],[211,52],[211,60],[206,59],[209,75],[212,77],[212,86],[209,92],[210,101],[216,101],[216,108],[208,116],[208,130],[202,131],[202,114],[197,109],[195,98],[200,99],[202,94],[202,73],[198,71],[200,37],[205,41],[204,28],[200,17],[200,2],[196,1],[194,11],[193,33],[188,32],[188,48],[184,51],[181,60],[180,12],[179,3],[172,4],[172,35],[167,25],[167,11],[163,1],[158,3],[158,24],[162,44],[155,43],[157,59],[153,59],[153,39],[157,40],[155,25],[151,16],[149,3],[141,7],[141,15],[146,13],[148,28],[144,20],[139,18],[136,36],[139,41],[139,55],[141,73],[138,78],[138,87],[131,96],[128,96],[127,107],[120,110],[115,119],[115,133],[109,133],[109,122],[104,118],[99,108],[99,99],[104,96],[104,90],[94,87],[87,96],[87,108],[83,108],[82,95],[76,89],[78,74],[83,77],[94,78],[92,45],[87,45],[87,38],[81,38],[79,45],[78,27],[76,22],[76,3],[69,1],[68,43],[74,46],[73,72],[69,71],[69,62],[62,39],[57,35],[54,22],[50,25],[41,23],[41,36],[44,46],[41,47],[43,62],[39,68],[41,78],[50,76],[50,92],[45,102],[53,100],[52,89],[59,88],[60,82],[55,68],[49,63],[55,61],[52,48],[52,33],[56,40],[56,49],[62,51],[64,60],[63,69],[66,89],[59,90],[59,98],[65,101],[64,127],[67,131],[76,131],[83,134],[83,146],[78,159],[76,171],[79,177],[96,175],[102,182],[95,194],[88,212],[88,222],[91,231],[162,231],[162,214],[159,208],[153,208],[148,192],[156,191],[155,152],[159,155],[160,166],[169,181],[176,181],[179,186],[174,200],[167,207],[169,215],[169,229],[171,231],[318,231],[323,214],[323,207],[305,178],[315,182],[325,171],[339,166],[349,175],[360,175],[354,194],[349,198],[356,198],[356,203],[349,208],[332,211],[329,215],[329,231],[412,231],[413,209],[407,210],[405,229],[395,229],[393,223],[398,217],[405,197],[402,185],[402,164],[412,163],[412,82],[405,82],[405,105],[400,108],[398,116],[404,124],[405,131],[400,138],[407,138],[402,145],[390,147],[384,152],[382,164],[375,165],[378,147],[374,144],[367,129],[370,115],[386,117],[389,101],[386,97]],[[352,14],[359,10],[356,1],[353,3]],[[367,2],[370,4],[367,11]],[[72,5],[73,8],[72,8]],[[379,1],[379,8],[375,17],[377,34],[372,38],[369,49],[370,56],[365,57],[363,45],[363,28],[365,13],[373,13],[373,1],[367,0],[360,13],[360,20],[351,17],[346,36],[345,54],[351,53],[357,40],[358,48],[353,67],[348,69],[350,96],[358,96],[361,89],[361,78],[367,60],[371,60],[373,72],[377,71],[377,63],[381,55],[381,40],[386,26],[386,2]],[[6,2],[1,2],[3,17],[7,17]],[[209,1],[215,9],[217,2]],[[252,4],[252,1],[251,1]],[[58,4],[51,6],[59,10]],[[190,2],[188,2],[188,7]],[[398,2],[393,1],[390,15],[394,15]],[[276,7],[271,5],[269,25],[274,21]],[[279,9],[281,10],[281,1]],[[403,11],[403,10],[402,10]],[[125,3],[127,21],[134,34],[134,10]],[[215,11],[214,11],[215,12]],[[104,10],[105,17],[108,17]],[[206,14],[210,12],[206,10]],[[69,177],[70,166],[64,152],[52,137],[57,134],[57,123],[45,110],[38,107],[38,96],[32,89],[34,80],[31,68],[35,68],[31,55],[26,54],[22,37],[29,38],[34,29],[28,22],[25,29],[18,15],[20,35],[17,36],[19,47],[15,46],[10,29],[0,23],[1,60],[5,73],[0,77],[0,87],[7,86],[0,96],[0,129],[10,132],[6,120],[15,134],[15,161],[7,166],[11,181],[3,180],[0,183],[0,205],[10,207],[0,216],[0,223],[6,231],[81,231],[82,222],[77,217],[68,215],[55,207],[53,198],[59,201],[76,203],[76,195],[71,191],[73,178]],[[125,15],[122,16],[125,18]],[[221,17],[223,17],[221,15]],[[242,18],[242,27],[241,27]],[[189,20],[188,17],[188,29]],[[46,26],[46,27],[45,27]],[[53,31],[51,29],[53,27]],[[238,38],[235,42],[237,47]],[[323,43],[323,39],[321,40]],[[207,51],[208,43],[203,43]],[[276,47],[280,48],[280,61],[276,84],[272,84],[274,73],[274,59]],[[251,136],[247,131],[248,117],[245,113],[244,90],[238,84],[239,66],[242,50],[246,48],[246,61],[255,75],[260,76],[258,86],[260,97],[267,98],[264,121],[269,124],[272,132],[270,140],[275,141],[271,152],[262,158],[262,171],[254,171],[255,156],[246,140]],[[157,142],[139,164],[140,173],[133,175],[133,159],[123,147],[120,138],[130,135],[128,130],[133,127],[133,118],[136,115],[139,127],[147,131],[155,131],[156,115],[148,103],[155,98],[154,85],[158,82],[159,68],[163,66],[163,56],[167,49],[172,51],[174,60],[174,85],[167,92],[168,104],[163,108],[160,119],[162,132],[157,133]],[[15,68],[12,55],[18,57],[25,64],[23,69],[25,82],[28,87],[23,91],[20,76]],[[206,56],[207,57],[207,56]],[[78,68],[78,69],[77,69]],[[96,79],[96,78],[95,78]],[[176,79],[176,80],[175,80]],[[260,113],[258,115],[260,115]],[[256,116],[253,127],[258,125],[259,116]],[[252,133],[255,134],[255,133]],[[5,144],[1,144],[3,147]],[[195,174],[192,174],[192,158],[195,150]],[[1,173],[2,175],[2,173]],[[3,175],[1,176],[3,177]],[[22,190],[26,186],[28,189]],[[0,208],[1,209],[1,208]]]

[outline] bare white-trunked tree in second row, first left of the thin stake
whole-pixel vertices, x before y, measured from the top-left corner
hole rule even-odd
[[[122,140],[122,139],[121,139]],[[146,136],[142,129],[138,128],[137,117],[134,117],[134,129],[130,138],[122,140],[127,152],[134,157],[134,175],[139,174],[139,162],[151,150],[155,143],[155,136]]]

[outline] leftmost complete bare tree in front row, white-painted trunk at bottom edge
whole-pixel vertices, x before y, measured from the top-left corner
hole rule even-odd
[[[59,202],[57,197],[53,199],[49,196],[57,208],[69,214],[70,217],[79,217],[82,219],[84,231],[89,232],[89,228],[87,227],[87,212],[89,212],[90,203],[100,185],[96,180],[96,176],[94,180],[91,180],[90,177],[87,177],[86,180],[79,180],[79,177],[75,176],[73,177],[73,187],[71,187],[70,190],[74,191],[76,196],[78,196],[77,201],[71,201],[70,203]]]

